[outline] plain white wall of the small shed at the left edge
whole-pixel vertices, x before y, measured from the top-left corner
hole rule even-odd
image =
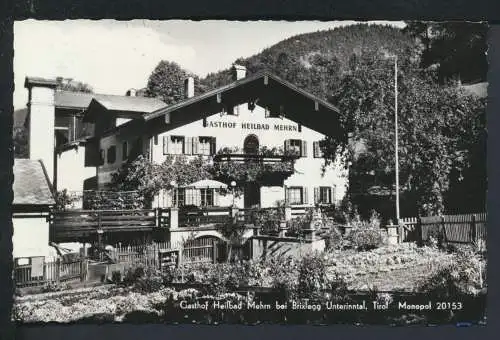
[[[49,223],[45,217],[12,218],[12,255],[17,257],[51,256],[49,246]]]

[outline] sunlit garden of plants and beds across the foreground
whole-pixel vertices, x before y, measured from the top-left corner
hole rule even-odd
[[[324,251],[300,258],[181,264],[163,271],[135,263],[100,287],[16,296],[12,318],[22,324],[484,322],[484,253],[434,241],[388,245],[374,230],[370,223],[344,236],[331,230]],[[429,300],[458,301],[460,308],[398,308],[402,301],[420,306]],[[389,308],[375,310],[373,303]],[[332,307],[337,305],[366,308]]]

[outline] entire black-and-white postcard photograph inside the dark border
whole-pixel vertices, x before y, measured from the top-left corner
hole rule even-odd
[[[11,320],[486,325],[488,29],[14,22]]]

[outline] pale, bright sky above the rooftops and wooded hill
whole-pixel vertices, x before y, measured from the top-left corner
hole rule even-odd
[[[203,77],[291,36],[354,21],[25,20],[14,23],[14,109],[26,76],[72,78],[96,93],[143,88],[161,60]],[[373,22],[403,27],[402,22]]]

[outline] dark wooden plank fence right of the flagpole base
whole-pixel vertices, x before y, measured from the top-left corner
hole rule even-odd
[[[403,218],[402,242],[426,242],[431,237],[446,243],[486,241],[487,214],[444,215]]]

